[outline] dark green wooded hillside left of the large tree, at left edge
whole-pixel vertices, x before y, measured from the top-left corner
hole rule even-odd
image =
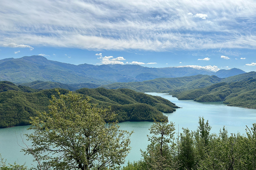
[[[57,94],[54,89],[24,92],[24,88],[17,88],[0,92],[0,128],[30,124],[29,117],[47,111],[51,95]],[[67,90],[60,92],[65,94]]]

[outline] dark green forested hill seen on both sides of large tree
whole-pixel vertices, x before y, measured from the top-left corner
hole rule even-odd
[[[69,92],[66,89],[59,91],[61,94]],[[129,89],[84,88],[76,92],[89,96],[91,102],[99,104],[99,107],[110,106],[119,122],[167,120],[162,112],[171,113],[178,108],[169,100]],[[55,89],[35,90],[7,81],[0,82],[0,128],[28,125],[29,117],[36,116],[37,111],[48,111],[51,95],[57,95]]]

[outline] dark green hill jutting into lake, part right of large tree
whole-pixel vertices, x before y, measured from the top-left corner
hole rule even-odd
[[[99,106],[110,106],[117,114],[117,120],[123,121],[161,121],[167,120],[162,114],[172,113],[178,108],[171,101],[158,96],[151,96],[130,89],[79,89],[79,94],[92,97],[92,102]]]

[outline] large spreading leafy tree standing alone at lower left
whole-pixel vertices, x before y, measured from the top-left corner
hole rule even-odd
[[[114,113],[69,92],[52,96],[49,113],[31,117],[27,134],[32,146],[23,149],[42,166],[53,169],[106,169],[124,163],[132,132],[119,130]],[[108,122],[108,123],[106,123]]]

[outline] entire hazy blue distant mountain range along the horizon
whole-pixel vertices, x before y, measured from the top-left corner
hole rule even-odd
[[[156,78],[189,77],[198,74],[217,75],[219,78],[226,78],[242,73],[245,72],[240,69],[213,72],[202,67],[187,66],[151,68],[130,64],[73,65],[47,60],[43,56],[25,56],[0,60],[0,81],[28,83],[39,80],[66,84],[87,83],[86,86],[92,86],[93,88],[97,85],[114,82],[140,82]]]

